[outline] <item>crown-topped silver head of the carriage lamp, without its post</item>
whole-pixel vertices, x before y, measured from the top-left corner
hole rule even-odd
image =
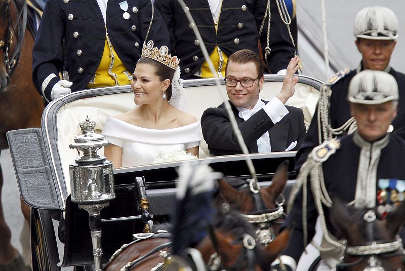
[[[83,133],[69,145],[83,153],[69,165],[71,200],[79,205],[106,203],[115,198],[112,163],[97,150],[109,145],[104,136],[94,132],[96,122],[80,122]]]

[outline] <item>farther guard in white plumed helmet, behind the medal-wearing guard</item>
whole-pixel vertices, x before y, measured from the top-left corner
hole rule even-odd
[[[382,70],[394,76],[399,89],[398,118],[392,122],[390,130],[405,126],[405,74],[389,65],[398,37],[395,14],[388,8],[378,6],[360,10],[354,20],[354,36],[362,59],[356,69],[341,70],[322,86],[307,136],[296,156],[296,171],[299,171],[314,146],[355,129],[346,96],[349,82],[361,70]]]

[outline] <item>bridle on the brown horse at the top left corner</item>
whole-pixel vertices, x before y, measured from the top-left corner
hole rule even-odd
[[[18,13],[17,5],[14,2],[12,3],[14,4],[14,8]],[[6,71],[11,78],[11,75],[13,74],[18,59],[20,57],[21,45],[24,39],[24,33],[27,25],[27,2],[24,1],[23,7],[17,16],[15,24],[13,24],[11,19],[9,0],[6,0],[4,5],[6,5],[5,8],[7,13],[8,25],[4,40],[0,40],[0,49],[3,49],[4,51],[4,62],[5,62],[4,64],[6,66]],[[13,36],[15,35],[16,32],[17,32],[17,45],[15,47],[13,55],[10,57],[9,53],[13,46]]]

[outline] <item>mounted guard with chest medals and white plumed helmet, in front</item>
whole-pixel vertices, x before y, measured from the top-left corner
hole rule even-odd
[[[332,196],[356,208],[369,209],[380,219],[405,198],[405,159],[398,155],[405,151],[405,140],[387,133],[397,115],[395,78],[384,71],[361,71],[350,82],[347,100],[357,129],[315,147],[293,188],[287,224],[295,223],[295,228],[290,246],[280,257],[290,270],[295,270],[312,240],[318,215],[325,221],[321,222],[322,243],[312,244],[320,250],[320,268],[326,268],[318,270],[330,270],[339,263],[345,248],[329,218]]]

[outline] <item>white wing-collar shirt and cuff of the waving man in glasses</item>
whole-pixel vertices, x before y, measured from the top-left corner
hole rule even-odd
[[[245,121],[249,120],[252,115],[263,108],[274,124],[281,121],[281,119],[289,113],[286,106],[284,106],[284,104],[282,104],[282,102],[276,97],[273,97],[267,104],[265,104],[262,99],[259,98],[255,107],[252,109],[245,107],[236,108],[239,110],[239,117]],[[270,136],[268,131],[257,140],[257,147],[259,153],[271,152]]]

